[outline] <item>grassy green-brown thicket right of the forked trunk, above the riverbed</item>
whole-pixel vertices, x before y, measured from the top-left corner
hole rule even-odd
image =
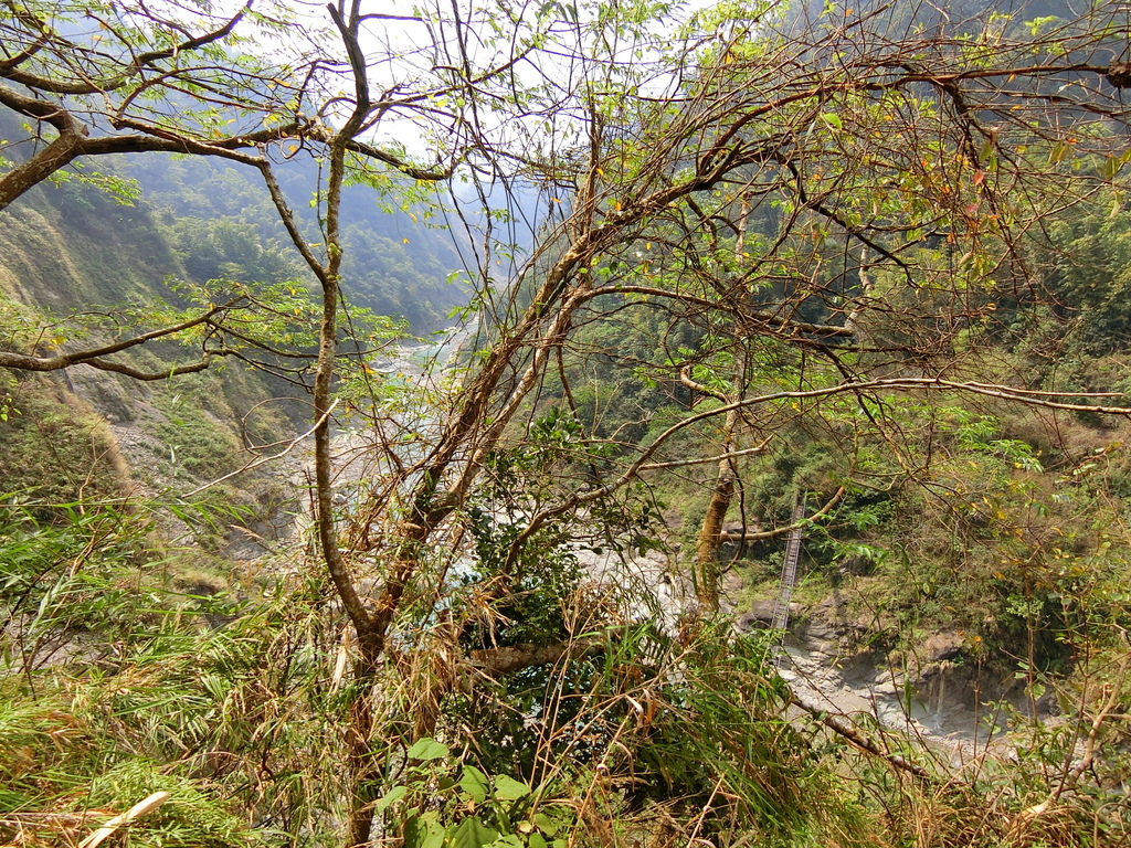
[[[867,843],[865,807],[828,769],[829,743],[819,728],[786,717],[789,695],[770,661],[771,640],[735,635],[722,620],[689,617],[675,633],[593,621],[556,661],[448,695],[435,734],[444,745],[421,743],[405,756],[412,767],[434,752],[442,779],[397,772],[426,788],[429,801],[412,796],[414,815],[449,811],[428,819],[430,832],[450,837],[474,812],[500,837],[534,845],[535,830],[513,832],[515,815],[549,804],[570,811],[570,822],[554,824],[572,845],[629,846],[666,831],[716,845],[756,834],[767,846]],[[449,762],[451,750],[458,762]],[[536,805],[508,807],[500,824],[494,806],[481,811],[460,795],[481,775],[507,776],[484,780],[489,794],[513,788],[513,777]],[[437,791],[440,801],[430,795]],[[409,796],[397,788],[386,802]],[[389,808],[391,821],[404,820],[400,807]]]

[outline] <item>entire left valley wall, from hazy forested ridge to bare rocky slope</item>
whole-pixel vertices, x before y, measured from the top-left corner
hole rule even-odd
[[[46,354],[90,347],[136,331],[146,313],[154,325],[167,323],[163,312],[190,305],[182,282],[231,280],[257,291],[287,282],[300,295],[312,289],[253,173],[164,156],[106,157],[97,167],[106,174],[64,173],[0,211],[3,348]],[[317,170],[299,166],[284,179],[291,194],[305,198]],[[126,189],[115,194],[107,185]],[[354,222],[347,233],[351,296],[405,317],[418,331],[446,321],[465,300],[447,279],[458,265],[450,240],[430,233],[423,216],[389,215],[360,187],[347,205]],[[266,303],[274,305],[269,295]],[[159,372],[187,355],[195,356],[162,343],[116,356]],[[249,448],[294,436],[309,415],[301,378],[236,363],[154,382],[83,365],[41,375],[8,371],[0,381],[0,494],[57,502],[193,491],[257,458]],[[106,485],[96,488],[93,479]],[[301,496],[283,488],[265,469],[205,497],[241,507],[252,535],[271,538]],[[250,537],[208,544],[250,555]]]

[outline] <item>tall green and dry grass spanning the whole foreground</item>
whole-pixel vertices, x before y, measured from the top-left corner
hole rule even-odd
[[[178,590],[243,578],[204,580],[191,557],[149,542],[144,510],[64,507],[50,521],[0,508],[0,842],[75,846],[167,791],[112,839],[340,845],[359,693],[325,580],[292,552],[278,577],[264,563],[239,591]],[[1110,605],[1106,641],[1060,683],[1063,720],[1016,716],[1012,759],[951,770],[864,727],[923,763],[921,778],[791,712],[769,642],[726,621],[664,632],[625,617],[607,588],[558,586],[542,599],[558,605],[544,611],[558,650],[489,674],[473,648],[492,642],[461,642],[458,616],[493,620],[491,639],[509,650],[554,646],[508,642],[503,607],[474,586],[433,591],[480,599],[438,607],[422,595],[396,631],[370,739],[386,764],[385,845],[489,832],[526,848],[1131,845],[1131,664]],[[422,737],[443,756],[421,754]],[[390,795],[397,786],[411,791]]]

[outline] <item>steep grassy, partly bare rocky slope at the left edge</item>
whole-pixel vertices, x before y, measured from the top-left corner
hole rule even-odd
[[[169,280],[187,276],[144,202],[123,206],[75,181],[40,187],[0,213],[0,346],[46,354],[129,334],[138,311],[184,305]],[[161,370],[174,354],[165,345],[122,358]],[[297,407],[266,404],[277,393],[290,392],[236,369],[147,383],[85,365],[3,371],[0,495],[62,504],[189,491],[244,464],[245,438],[295,431]],[[273,500],[265,487],[269,479],[249,479],[219,500],[254,521]]]

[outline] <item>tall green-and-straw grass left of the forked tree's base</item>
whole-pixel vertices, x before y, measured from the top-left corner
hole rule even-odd
[[[139,512],[54,514],[0,513],[0,839],[77,843],[169,791],[129,845],[329,843],[339,704],[318,587],[175,591],[181,563]]]

